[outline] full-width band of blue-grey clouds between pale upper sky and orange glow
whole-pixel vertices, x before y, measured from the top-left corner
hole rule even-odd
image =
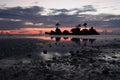
[[[118,28],[120,27],[120,15],[99,14],[90,15],[86,12],[96,12],[92,5],[74,9],[49,9],[49,15],[43,7],[12,7],[0,9],[0,29],[19,29],[21,27],[51,27],[50,25],[60,22],[62,26],[75,26],[87,22],[90,26]],[[72,14],[70,14],[73,12]],[[81,14],[84,13],[84,14]],[[32,25],[25,25],[30,22]],[[43,25],[39,25],[43,23]]]

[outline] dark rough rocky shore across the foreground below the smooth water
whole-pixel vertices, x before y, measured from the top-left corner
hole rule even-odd
[[[70,51],[49,61],[18,61],[0,67],[0,80],[120,80],[119,57],[112,57],[120,49],[109,46]]]

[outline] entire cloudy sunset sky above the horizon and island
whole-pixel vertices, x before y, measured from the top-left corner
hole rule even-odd
[[[97,30],[120,32],[120,0],[1,0],[0,31],[39,33],[87,22]]]

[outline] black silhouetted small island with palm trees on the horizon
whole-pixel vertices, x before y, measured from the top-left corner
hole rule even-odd
[[[64,30],[63,33],[58,28],[59,25],[60,25],[59,23],[56,24],[55,31],[46,32],[45,34],[50,34],[50,35],[99,35],[99,33],[93,27],[91,27],[89,30],[86,29],[87,23],[83,24],[83,26],[85,27],[85,29],[83,29],[83,30],[80,30],[81,24],[79,24],[76,26],[76,28],[72,28],[71,32]]]

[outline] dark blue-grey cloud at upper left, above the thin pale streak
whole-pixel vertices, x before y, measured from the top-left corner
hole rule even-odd
[[[44,10],[43,7],[33,6],[30,8],[13,7],[0,10],[1,18],[22,18],[34,19],[40,12]]]

